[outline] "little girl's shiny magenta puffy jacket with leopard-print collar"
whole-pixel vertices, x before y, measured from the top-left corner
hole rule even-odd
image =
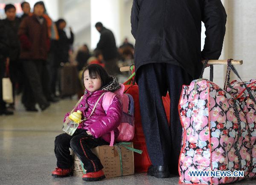
[[[82,119],[89,117],[91,112],[93,111],[93,107],[96,101],[99,99],[102,93],[107,91],[114,92],[118,88],[120,88],[120,85],[119,83],[117,83],[116,78],[113,77],[113,81],[110,84],[103,87],[102,90],[90,92],[87,89],[85,89],[84,96],[74,111],[81,111],[83,113]],[[102,139],[104,139],[105,141],[110,142],[110,131],[114,130],[115,138],[118,137],[119,135],[117,127],[121,123],[122,104],[117,95],[115,95],[111,105],[109,105],[108,111],[105,112],[105,110],[102,107],[103,97],[104,96],[102,96],[99,100],[99,103],[96,106],[90,118],[84,122],[81,122],[79,124],[78,129],[80,128],[88,130],[93,134],[94,137],[102,137]],[[69,114],[70,113],[67,113],[65,115],[65,119],[67,116],[69,116]]]

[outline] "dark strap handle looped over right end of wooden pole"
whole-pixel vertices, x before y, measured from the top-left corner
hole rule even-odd
[[[236,74],[236,76],[241,80],[241,82],[243,83],[244,87],[246,88],[250,98],[253,100],[253,102],[256,104],[256,100],[255,97],[253,97],[252,91],[247,87],[247,85],[244,83],[244,81],[241,79],[241,77],[239,76],[238,72],[236,71],[236,68],[234,67],[234,65],[231,63],[232,59],[227,60],[227,74],[226,74],[226,79],[225,79],[225,84],[224,84],[224,90],[227,90],[227,86],[233,90],[235,90],[236,92],[238,91],[237,89],[234,89],[233,87],[231,87],[230,85],[230,71],[232,70],[234,74]]]

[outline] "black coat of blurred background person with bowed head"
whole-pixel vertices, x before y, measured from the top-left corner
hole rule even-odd
[[[104,60],[112,60],[117,57],[116,40],[112,31],[105,27],[102,28],[96,49],[102,51]]]

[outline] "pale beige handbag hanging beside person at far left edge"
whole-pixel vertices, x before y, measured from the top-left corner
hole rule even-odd
[[[2,85],[3,85],[3,101],[6,103],[13,103],[13,96],[12,96],[12,82],[9,78],[9,66],[6,65],[6,75],[2,78]]]

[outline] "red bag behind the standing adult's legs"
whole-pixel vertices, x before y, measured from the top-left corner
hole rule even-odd
[[[148,156],[145,137],[143,134],[143,128],[140,117],[140,102],[139,102],[139,88],[135,83],[134,66],[131,66],[131,77],[124,83],[124,93],[131,94],[134,99],[134,139],[132,140],[134,148],[142,150],[142,154],[134,152],[134,170],[135,172],[147,172],[148,167],[151,165],[151,161]],[[166,97],[162,97],[163,105],[166,111],[168,122],[170,122],[170,97],[167,93]]]

